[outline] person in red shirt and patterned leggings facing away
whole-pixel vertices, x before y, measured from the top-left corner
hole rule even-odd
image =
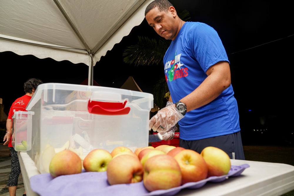
[[[16,187],[18,184],[18,177],[21,172],[19,159],[17,156],[17,152],[14,150],[12,146],[12,142],[14,142],[14,134],[12,133],[12,116],[15,111],[26,111],[26,106],[28,105],[29,101],[31,100],[32,96],[34,95],[37,86],[42,84],[43,82],[40,79],[30,78],[28,81],[24,83],[24,92],[26,93],[24,96],[17,98],[11,105],[9,110],[8,118],[6,120],[6,134],[4,136],[3,141],[4,145],[8,144],[8,148],[11,153],[11,172],[8,178],[8,190],[10,196],[16,195]],[[24,192],[26,195],[26,192]]]

